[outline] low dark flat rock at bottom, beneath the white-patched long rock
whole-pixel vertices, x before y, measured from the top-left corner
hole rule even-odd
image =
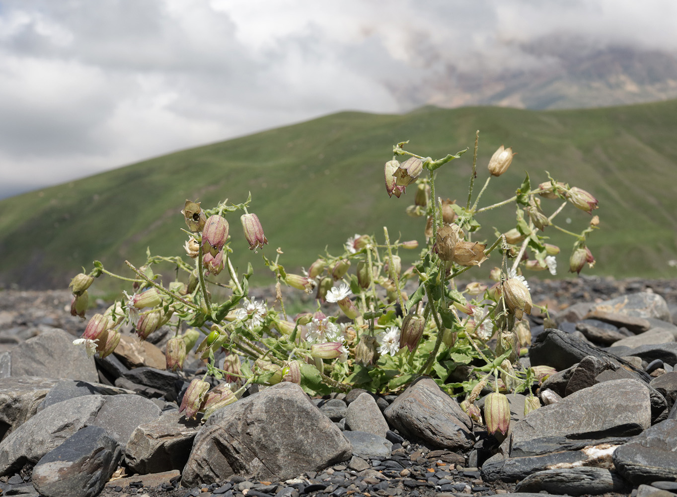
[[[558,468],[538,471],[517,483],[518,492],[562,492],[571,496],[624,492],[628,484],[604,468]]]

